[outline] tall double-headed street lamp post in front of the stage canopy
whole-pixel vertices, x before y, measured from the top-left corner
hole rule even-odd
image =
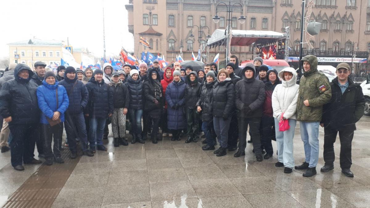
[[[239,20],[239,23],[240,24],[243,24],[245,22],[245,17],[243,16],[243,5],[240,4],[240,3],[233,3],[231,5],[231,1],[229,1],[229,6],[221,1],[219,3],[216,4],[216,14],[214,17],[212,17],[213,21],[215,23],[218,23],[220,21],[220,17],[217,15],[217,7],[219,6],[219,4],[225,4],[226,6],[226,17],[228,19],[226,19],[227,21],[227,26],[226,26],[226,51],[225,51],[225,59],[226,59],[226,62],[229,62],[229,51],[230,51],[230,48],[229,48],[229,43],[230,43],[230,27],[231,27],[231,21],[232,21],[232,12],[233,12],[233,7],[235,6],[235,4],[238,4],[240,5],[241,7],[241,11],[240,11],[240,17],[238,18]]]

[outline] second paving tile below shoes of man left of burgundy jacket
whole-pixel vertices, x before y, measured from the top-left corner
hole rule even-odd
[[[255,194],[282,191],[282,189],[266,176],[231,178],[230,181],[242,194]]]

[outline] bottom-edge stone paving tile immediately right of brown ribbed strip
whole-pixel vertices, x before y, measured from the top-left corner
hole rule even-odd
[[[105,189],[105,187],[63,188],[59,192],[52,207],[93,207],[101,205]]]

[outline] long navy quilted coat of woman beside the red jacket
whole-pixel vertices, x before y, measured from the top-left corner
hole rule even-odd
[[[184,111],[185,89],[186,84],[182,79],[178,83],[173,81],[166,88],[168,129],[186,129],[186,117]],[[172,108],[175,104],[179,105],[178,109]]]

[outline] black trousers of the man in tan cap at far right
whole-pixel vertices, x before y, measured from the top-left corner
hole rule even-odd
[[[340,167],[342,169],[351,168],[352,158],[352,140],[354,131],[339,131],[340,140]],[[327,165],[332,165],[335,160],[334,142],[337,138],[338,131],[331,128],[324,128],[324,161]]]

